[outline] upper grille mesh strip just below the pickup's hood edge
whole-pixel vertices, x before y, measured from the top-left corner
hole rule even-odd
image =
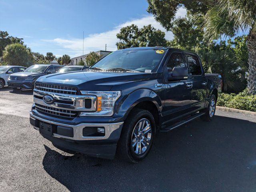
[[[79,94],[76,87],[46,84],[46,83],[36,83],[35,89],[40,90],[40,91],[68,94],[68,95],[78,95]]]

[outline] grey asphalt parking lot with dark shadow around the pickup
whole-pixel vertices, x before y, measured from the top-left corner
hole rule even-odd
[[[0,191],[255,192],[256,118],[216,111],[158,134],[138,164],[68,154],[30,126],[32,91],[0,91]]]

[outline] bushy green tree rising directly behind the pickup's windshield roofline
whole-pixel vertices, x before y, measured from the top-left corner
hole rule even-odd
[[[120,29],[116,37],[120,42],[116,43],[118,49],[142,46],[166,46],[165,33],[151,25],[143,26],[141,29],[132,24]]]

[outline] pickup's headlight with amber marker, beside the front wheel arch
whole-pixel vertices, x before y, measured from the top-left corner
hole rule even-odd
[[[83,95],[96,96],[96,112],[82,112],[80,116],[112,116],[121,91],[81,91]]]

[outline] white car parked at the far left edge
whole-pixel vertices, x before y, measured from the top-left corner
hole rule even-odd
[[[0,89],[4,88],[4,86],[8,85],[7,81],[10,74],[23,72],[26,67],[22,66],[0,66]]]

